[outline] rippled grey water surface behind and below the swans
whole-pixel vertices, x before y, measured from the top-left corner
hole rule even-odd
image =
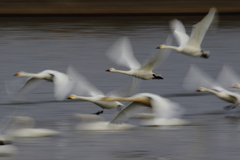
[[[31,116],[37,127],[62,132],[58,137],[18,139],[17,160],[236,160],[239,158],[239,108],[224,112],[228,103],[215,96],[172,97],[185,109],[183,119],[191,122],[178,127],[139,127],[123,132],[76,131],[80,121],[75,113],[94,113],[100,108],[88,102],[54,102],[53,84],[44,82],[22,100],[29,103],[8,105],[11,97],[6,82],[15,82],[19,71],[40,72],[46,69],[65,72],[73,65],[97,88],[107,93],[131,82],[130,76],[105,72],[110,67],[125,69],[109,61],[106,50],[121,36],[132,42],[136,58],[144,62],[171,33],[169,21],[178,18],[190,33],[191,26],[202,17],[5,17],[0,18],[0,116]],[[182,81],[189,66],[196,64],[213,76],[224,64],[239,74],[239,16],[220,17],[217,33],[209,32],[202,48],[209,50],[209,59],[193,58],[172,51],[155,73],[164,80],[142,81],[140,92],[155,94],[189,93]],[[174,41],[174,44],[176,42]],[[17,82],[17,81],[16,81]],[[195,92],[195,91],[192,91]],[[53,101],[53,102],[51,102]],[[50,103],[51,102],[51,103]],[[105,110],[111,120],[117,110]],[[139,125],[141,120],[128,123]]]

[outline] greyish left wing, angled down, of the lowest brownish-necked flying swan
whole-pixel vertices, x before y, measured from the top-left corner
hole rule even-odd
[[[132,102],[126,108],[124,108],[118,115],[111,120],[110,124],[122,124],[128,120],[132,115],[146,109],[146,107],[139,105],[138,103]]]

